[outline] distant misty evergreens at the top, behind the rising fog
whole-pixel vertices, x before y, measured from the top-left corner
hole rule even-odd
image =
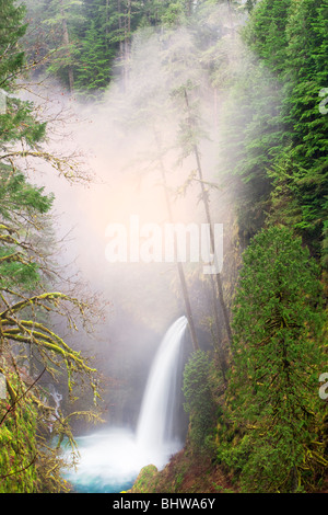
[[[127,75],[133,33],[174,23],[189,2],[26,0],[28,55],[84,99],[99,99],[117,69]],[[186,5],[187,4],[187,5]],[[45,37],[46,36],[46,37]]]

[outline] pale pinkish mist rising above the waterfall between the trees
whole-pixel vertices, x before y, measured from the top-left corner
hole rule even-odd
[[[128,62],[117,64],[115,79],[97,102],[72,98],[59,83],[44,77],[38,77],[37,85],[28,92],[43,119],[49,121],[48,148],[67,156],[77,152],[81,170],[90,175],[90,181],[69,181],[43,164],[42,169],[35,165],[37,173],[32,180],[55,194],[52,211],[57,239],[62,241],[57,256],[61,267],[68,276],[81,277],[105,306],[106,319],[93,337],[79,334],[73,341],[94,355],[96,366],[109,382],[114,381],[105,396],[109,422],[136,425],[156,347],[167,327],[184,314],[185,306],[175,263],[109,263],[106,229],[110,224],[128,228],[131,216],[138,216],[140,224],[163,226],[168,221],[161,165],[175,222],[206,221],[192,147],[187,138],[183,141],[188,119],[184,89],[196,113],[196,139],[213,220],[224,228],[222,275],[227,289],[233,289],[238,260],[233,247],[239,182],[232,178],[226,181],[222,169],[226,159],[224,131],[232,129],[226,105],[236,101],[231,95],[235,82],[249,64],[255,66],[254,56],[236,33],[243,22],[243,15],[232,20],[229,10],[216,5],[200,12],[192,25],[140,30],[133,36]],[[221,77],[222,83],[213,88],[210,71],[216,66],[233,79],[225,83]],[[263,88],[263,99],[266,94]],[[267,108],[271,108],[269,102]],[[233,121],[236,139],[242,138],[243,124],[251,117],[243,110],[241,104],[239,134]],[[201,263],[184,266],[190,277],[201,345],[209,348],[208,279]]]

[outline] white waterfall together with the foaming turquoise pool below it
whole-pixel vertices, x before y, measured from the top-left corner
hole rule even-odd
[[[152,364],[136,434],[112,427],[77,438],[80,460],[67,479],[79,492],[120,492],[129,489],[147,465],[163,468],[181,443],[174,438],[179,351],[187,327],[180,317],[166,332]]]

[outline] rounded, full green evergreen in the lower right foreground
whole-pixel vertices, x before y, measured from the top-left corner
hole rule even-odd
[[[230,459],[247,491],[293,492],[327,470],[325,363],[317,265],[288,228],[259,232],[244,254],[227,400],[242,435]],[[235,456],[235,458],[233,458]]]

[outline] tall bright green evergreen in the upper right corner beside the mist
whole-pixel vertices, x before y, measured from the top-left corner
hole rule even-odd
[[[288,207],[292,198],[298,211],[296,228],[325,265],[328,118],[319,113],[319,94],[327,81],[327,2],[259,2],[245,38],[282,84],[277,138],[267,169],[274,188],[281,191],[284,184],[284,204]],[[281,173],[283,161],[288,168]]]

